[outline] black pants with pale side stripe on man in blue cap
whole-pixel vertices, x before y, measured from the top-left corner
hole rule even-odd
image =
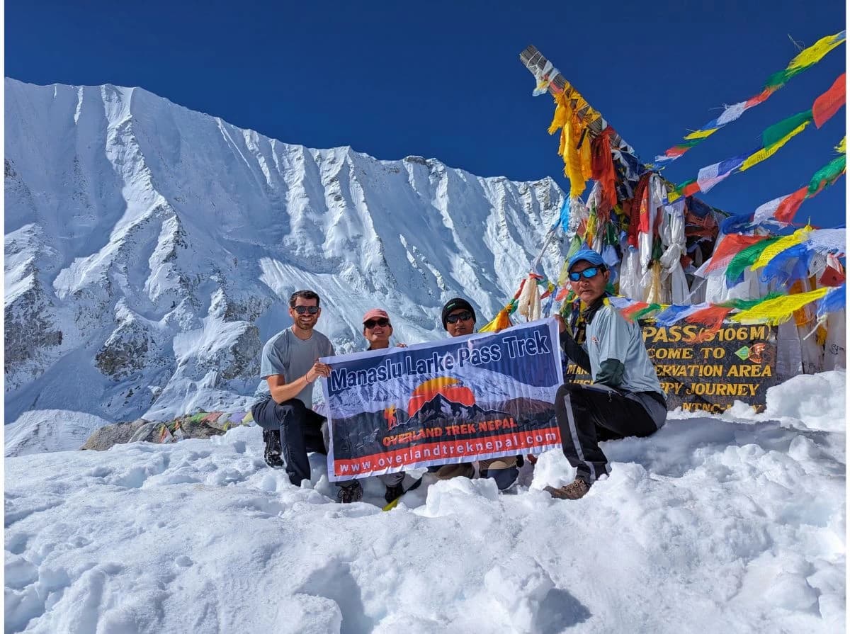
[[[599,443],[627,436],[649,436],[658,427],[638,400],[603,386],[564,383],[555,397],[555,414],[564,456],[576,477],[593,482],[609,473]]]

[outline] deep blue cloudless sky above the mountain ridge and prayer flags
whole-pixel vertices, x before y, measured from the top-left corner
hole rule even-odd
[[[526,45],[649,161],[719,106],[758,93],[796,54],[789,36],[808,46],[846,24],[842,0],[5,6],[5,72],[25,82],[141,86],[288,143],[436,157],[484,176],[551,175],[564,189],[558,140],[546,132],[553,102],[531,97],[534,79],[519,62]],[[845,67],[842,45],[673,163],[666,178],[681,182],[757,147],[765,127],[808,110]],[[750,212],[808,183],[835,156],[845,114],[703,198]],[[797,219],[844,224],[845,192],[842,178]]]

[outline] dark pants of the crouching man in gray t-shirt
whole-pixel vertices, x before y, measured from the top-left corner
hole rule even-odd
[[[275,403],[268,399],[254,405],[254,421],[263,429],[280,432],[280,456],[286,463],[289,481],[296,486],[310,478],[308,451],[327,454],[322,424],[325,416],[309,410],[298,399]]]

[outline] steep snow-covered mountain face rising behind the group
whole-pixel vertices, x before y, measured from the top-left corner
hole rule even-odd
[[[483,324],[564,197],[550,178],[281,143],[140,88],[5,87],[7,422],[242,405],[299,288],[340,352],[373,306],[399,341],[445,336],[456,295]]]

